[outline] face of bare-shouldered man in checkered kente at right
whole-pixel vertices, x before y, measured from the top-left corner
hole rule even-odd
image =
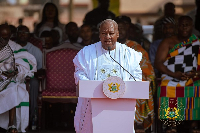
[[[178,34],[184,38],[189,38],[192,34],[193,23],[187,18],[180,20],[178,25]]]

